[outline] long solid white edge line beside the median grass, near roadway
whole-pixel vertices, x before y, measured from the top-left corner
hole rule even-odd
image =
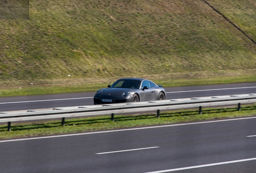
[[[68,134],[68,135],[55,135],[55,136],[46,136],[46,137],[31,137],[31,138],[24,138],[24,139],[10,139],[10,140],[5,140],[5,141],[0,141],[0,143],[12,142],[12,141],[25,141],[25,140],[32,140],[32,139],[45,139],[45,138],[55,138],[55,137],[89,135],[89,134],[96,134],[96,133],[111,133],[111,132],[118,132],[118,131],[132,131],[132,130],[142,130],[142,129],[153,129],[153,128],[160,128],[160,127],[172,127],[172,126],[182,126],[182,125],[216,123],[216,122],[222,122],[222,121],[235,121],[235,120],[255,119],[255,118],[256,117],[246,117],[246,118],[237,118],[237,119],[202,121],[202,122],[196,122],[196,123],[183,123],[183,124],[161,125],[161,126],[152,126],[152,127],[138,127],[138,128],[132,128],[132,129],[119,129],[119,130],[109,130],[109,131],[95,131],[95,132],[86,132],[86,133],[75,133],[75,134]]]

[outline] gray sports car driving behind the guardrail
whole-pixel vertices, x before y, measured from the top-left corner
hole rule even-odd
[[[142,78],[122,78],[96,92],[96,104],[165,100],[163,86]]]

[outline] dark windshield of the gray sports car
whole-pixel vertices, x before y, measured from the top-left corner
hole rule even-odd
[[[140,81],[132,79],[120,79],[111,85],[111,88],[139,89]]]

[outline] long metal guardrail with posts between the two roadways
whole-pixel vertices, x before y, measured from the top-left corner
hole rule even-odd
[[[199,107],[199,113],[202,114],[202,107],[217,105],[238,104],[238,110],[242,103],[255,103],[256,94],[247,95],[226,95],[215,97],[198,97],[187,99],[174,99],[163,101],[149,101],[136,103],[118,103],[105,105],[90,105],[80,107],[60,107],[52,110],[27,110],[0,112],[0,122],[8,122],[8,131],[11,131],[11,122],[26,121],[37,119],[62,118],[62,125],[65,125],[65,117],[80,117],[111,114],[111,120],[114,121],[115,113],[130,113],[140,111],[155,111],[157,117],[160,117],[160,110],[164,109],[182,109],[189,107]]]

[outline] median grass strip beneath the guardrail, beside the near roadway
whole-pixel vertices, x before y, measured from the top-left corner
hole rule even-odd
[[[64,127],[61,125],[61,120],[13,123],[11,132],[7,131],[7,125],[0,125],[0,139],[247,117],[256,115],[256,104],[244,105],[242,111],[237,111],[234,107],[203,108],[202,111],[202,115],[198,114],[198,109],[161,112],[160,118],[154,114],[116,115],[114,122],[111,121],[110,115],[76,118],[66,120]]]

